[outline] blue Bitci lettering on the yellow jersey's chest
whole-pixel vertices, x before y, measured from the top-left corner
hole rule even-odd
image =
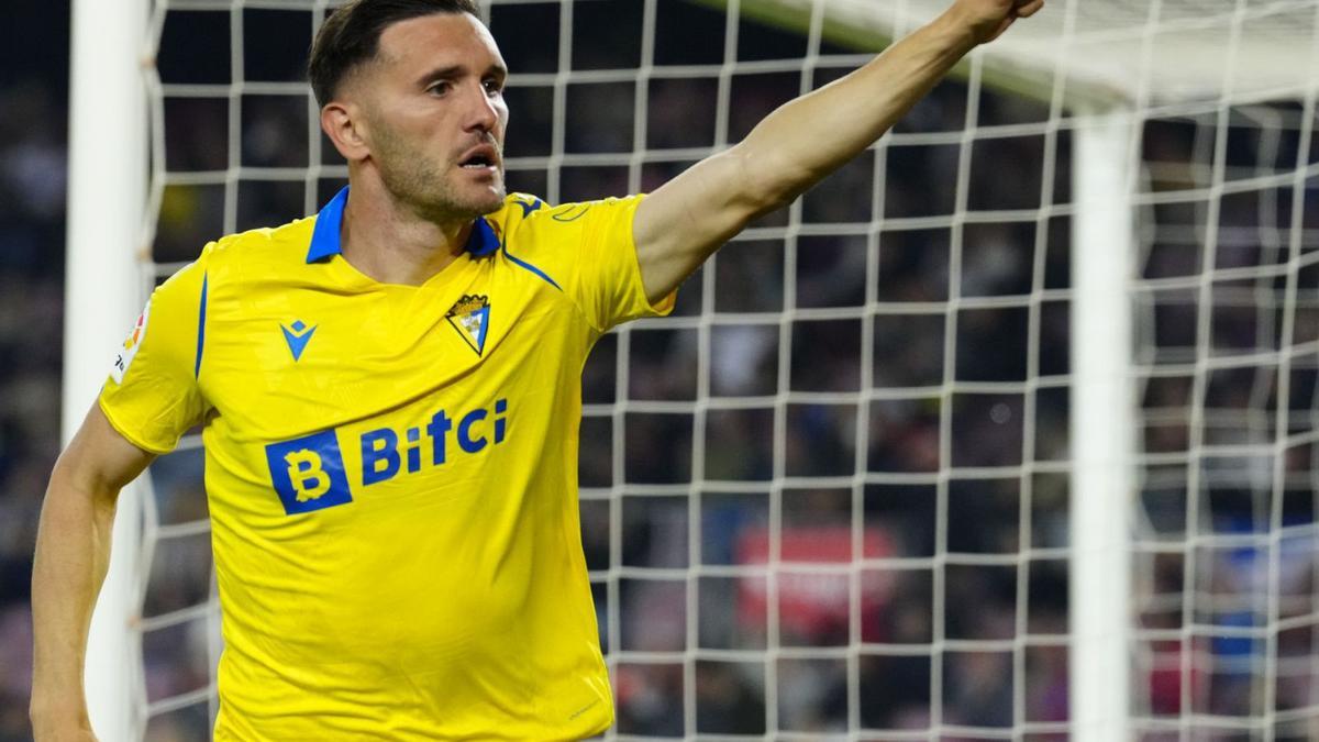
[[[450,417],[438,409],[425,425],[396,430],[380,428],[361,434],[361,485],[388,482],[401,473],[415,474],[422,465],[443,466],[450,459],[450,441],[464,454],[500,445],[508,434],[508,400],[495,400],[491,409],[477,408]],[[425,459],[425,461],[423,461]]]

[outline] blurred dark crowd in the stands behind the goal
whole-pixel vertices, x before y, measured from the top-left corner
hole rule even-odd
[[[571,30],[592,44],[572,48],[572,69],[637,67],[640,5],[576,3]],[[186,16],[165,25],[162,81],[228,83],[228,15]],[[634,82],[572,83],[555,121],[551,83],[518,86],[517,75],[559,71],[566,29],[558,24],[551,4],[496,5],[492,16],[514,75],[510,189],[559,202],[627,193],[633,182],[650,190],[695,156],[648,158],[638,181],[627,157],[607,156],[634,148],[700,152],[736,140],[802,86],[798,73],[735,75],[727,129],[718,132],[714,74],[649,81],[641,108]],[[656,63],[721,63],[723,24],[721,11],[662,1]],[[297,81],[298,54],[252,50],[303,49],[309,15],[249,9],[244,26],[247,79]],[[826,44],[822,51],[848,50]],[[805,53],[797,34],[748,20],[739,26],[740,61]],[[807,82],[822,84],[849,66],[824,65]],[[63,81],[0,81],[7,112],[0,118],[0,741],[7,742],[26,734],[30,552],[58,448],[66,103]],[[235,100],[243,107],[239,132],[228,129],[235,103],[226,95],[166,99],[171,172],[218,172],[235,156],[253,174],[309,165],[318,137],[309,135],[305,96]],[[981,136],[963,149],[958,136],[968,100],[964,83],[940,84],[897,127],[892,147],[843,168],[803,197],[795,215],[766,217],[687,281],[675,320],[638,323],[625,341],[607,337],[588,362],[582,535],[601,644],[616,669],[620,733],[772,735],[777,729],[824,737],[857,726],[936,725],[962,730],[943,739],[971,739],[975,730],[1031,724],[1034,739],[1066,738],[1070,222],[1066,210],[988,224],[952,214],[1070,203],[1071,137],[1066,129],[1046,136],[1046,103],[983,91],[975,98],[981,131],[1016,124],[1030,133]],[[645,141],[634,139],[638,111]],[[566,128],[566,162],[554,172],[547,158],[557,124]],[[1207,153],[1204,137],[1208,131],[1212,140],[1212,124],[1213,116],[1179,116],[1146,125],[1142,191],[1206,186],[1212,148]],[[950,137],[911,144],[901,139],[910,132]],[[1228,149],[1231,164],[1285,170],[1290,147],[1294,166],[1299,133],[1283,132],[1282,141],[1281,152],[1274,147],[1265,156],[1258,135],[1246,129]],[[321,162],[332,168],[327,149]],[[959,195],[964,156],[971,162]],[[1051,181],[1046,157],[1057,165]],[[187,260],[224,228],[301,217],[309,202],[334,191],[336,174],[240,180],[228,223],[223,176],[214,185],[169,187],[154,257]],[[1315,275],[1298,276],[1290,338],[1281,334],[1283,289],[1273,276],[1227,285],[1210,294],[1212,309],[1203,306],[1194,281],[1206,261],[1266,269],[1286,259],[1281,246],[1290,244],[1293,209],[1290,195],[1270,198],[1264,189],[1253,201],[1224,198],[1215,213],[1223,238],[1208,252],[1208,203],[1199,197],[1142,210],[1140,285],[1191,283],[1133,293],[1141,446],[1150,454],[1141,470],[1142,547],[1134,560],[1133,652],[1142,671],[1134,710],[1151,720],[1188,710],[1260,716],[1266,658],[1278,659],[1279,709],[1319,702],[1312,663],[1299,661],[1315,648],[1315,628],[1302,619],[1319,611],[1311,481],[1319,466],[1310,446],[1286,446],[1281,462],[1258,452],[1203,461],[1187,453],[1268,445],[1275,440],[1270,409],[1279,407],[1293,412],[1287,434],[1310,432],[1312,359],[1290,368],[1282,401],[1275,358],[1244,362],[1229,370],[1235,375],[1202,370],[1202,391],[1195,362],[1316,339],[1319,284]],[[1303,226],[1319,227],[1319,199],[1302,203]],[[922,218],[919,228],[911,226]],[[1297,244],[1312,250],[1319,240],[1304,232]],[[1212,314],[1212,337],[1196,334],[1202,312]],[[1190,412],[1195,395],[1206,400],[1203,417]],[[615,415],[607,405],[619,401],[687,404]],[[153,465],[162,523],[204,518],[199,467],[197,450]],[[1194,495],[1188,482],[1198,487]],[[1170,547],[1188,531],[1202,536],[1200,548]],[[1249,540],[1270,531],[1275,553],[1268,541]],[[859,565],[861,558],[869,561]],[[204,535],[157,543],[144,614],[204,601],[210,580]],[[1275,615],[1295,619],[1295,630],[1270,623],[1270,594]],[[1182,630],[1192,624],[1187,643]],[[144,636],[149,700],[211,681],[212,630],[203,619]],[[695,661],[686,661],[692,654]],[[154,718],[149,737],[204,738],[208,722],[200,704]]]

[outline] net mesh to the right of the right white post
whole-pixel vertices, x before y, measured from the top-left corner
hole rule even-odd
[[[1148,124],[1134,549],[1149,729],[1316,733],[1312,133],[1312,99]]]

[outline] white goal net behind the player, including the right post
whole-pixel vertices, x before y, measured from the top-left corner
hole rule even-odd
[[[344,182],[334,5],[154,0],[144,297]],[[509,186],[652,190],[942,7],[487,1]],[[604,338],[607,738],[1319,738],[1316,50],[1319,0],[1050,0]],[[149,481],[131,737],[206,739],[199,437]]]

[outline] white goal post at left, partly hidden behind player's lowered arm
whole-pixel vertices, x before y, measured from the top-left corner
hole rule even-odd
[[[141,312],[146,214],[148,0],[75,0],[69,118],[62,440],[73,437]],[[142,477],[124,487],[87,644],[87,705],[106,741],[140,729],[133,630],[141,594]]]

